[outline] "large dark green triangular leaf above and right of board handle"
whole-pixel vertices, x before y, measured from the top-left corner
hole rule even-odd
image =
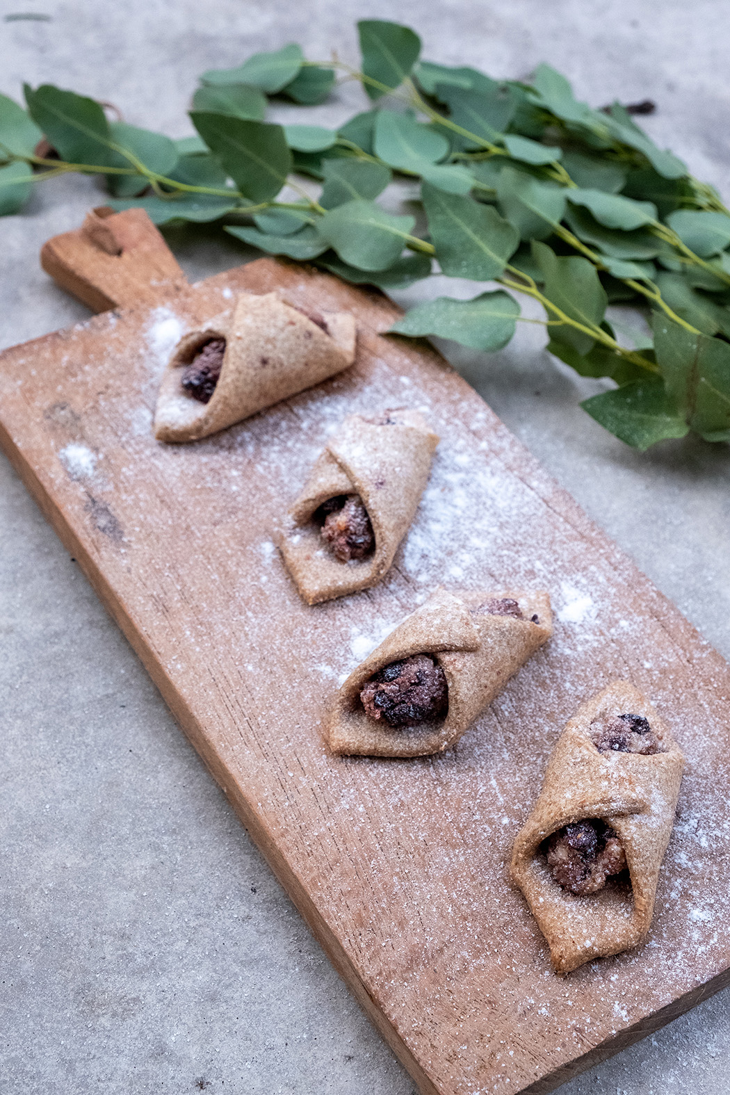
[[[252,201],[276,197],[292,165],[281,126],[204,111],[193,111],[190,118],[242,194]]]

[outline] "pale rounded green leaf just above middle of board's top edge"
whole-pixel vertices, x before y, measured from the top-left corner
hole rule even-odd
[[[318,228],[344,262],[358,269],[384,270],[399,257],[414,224],[414,217],[396,217],[358,198],[328,210]]]

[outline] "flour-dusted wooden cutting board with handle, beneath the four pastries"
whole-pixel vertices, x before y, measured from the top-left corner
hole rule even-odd
[[[726,984],[729,667],[437,353],[380,334],[396,308],[269,258],[189,286],[138,211],[43,261],[114,307],[5,350],[2,446],[420,1091],[549,1091]],[[356,366],[216,437],[157,442],[179,335],[277,287],[351,310]],[[416,521],[380,586],[308,608],[273,525],[346,414],[394,405],[441,436]],[[332,758],[333,691],[439,584],[546,588],[554,638],[445,756]],[[615,677],[687,769],[648,942],[560,979],[506,864],[564,723]]]

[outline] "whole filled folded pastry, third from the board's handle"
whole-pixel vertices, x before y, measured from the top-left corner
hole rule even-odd
[[[551,634],[547,593],[434,590],[347,678],[327,724],[329,748],[443,752]]]

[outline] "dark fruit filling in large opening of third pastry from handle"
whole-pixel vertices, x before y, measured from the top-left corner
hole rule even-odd
[[[390,726],[417,726],[447,713],[449,688],[436,658],[414,654],[373,673],[360,700],[369,718]]]

